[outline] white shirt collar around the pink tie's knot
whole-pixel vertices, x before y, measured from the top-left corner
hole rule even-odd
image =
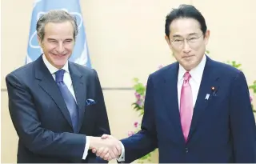
[[[202,79],[203,70],[206,66],[206,55],[204,54],[202,57],[202,61],[196,66],[194,69],[190,70],[189,73],[191,78],[194,79],[195,82],[200,83]],[[186,73],[186,70],[179,64],[178,69],[178,82],[182,80],[183,75]]]

